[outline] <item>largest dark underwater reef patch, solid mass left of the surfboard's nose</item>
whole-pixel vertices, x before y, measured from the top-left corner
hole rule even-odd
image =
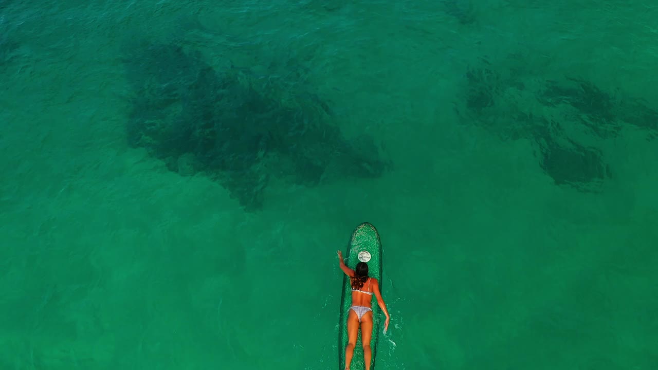
[[[315,186],[374,178],[391,165],[370,136],[347,140],[328,104],[303,84],[228,59],[213,67],[180,45],[134,43],[124,54],[132,90],[128,144],[171,171],[213,178],[247,211],[263,207],[274,178]]]

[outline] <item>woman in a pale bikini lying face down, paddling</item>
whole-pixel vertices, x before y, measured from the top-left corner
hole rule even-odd
[[[352,306],[347,315],[347,346],[345,346],[345,370],[349,370],[349,364],[352,363],[354,355],[354,346],[357,343],[359,334],[359,324],[361,324],[361,343],[363,344],[363,359],[366,370],[370,370],[370,360],[372,351],[370,350],[370,338],[372,338],[372,294],[377,298],[379,307],[386,315],[384,323],[384,332],[388,330],[388,322],[391,317],[388,315],[386,304],[382,299],[379,291],[379,282],[376,278],[368,277],[368,265],[365,262],[357,263],[356,271],[350,269],[343,261],[343,253],[338,251],[340,269],[347,275],[352,286]]]

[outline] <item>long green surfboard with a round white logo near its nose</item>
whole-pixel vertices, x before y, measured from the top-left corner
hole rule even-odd
[[[352,232],[347,244],[347,251],[343,254],[345,265],[350,269],[355,269],[359,261],[368,263],[368,275],[379,281],[380,291],[382,290],[382,280],[384,280],[384,263],[382,262],[382,242],[379,238],[377,229],[370,223],[362,223]],[[343,295],[340,302],[340,321],[338,321],[338,369],[345,370],[345,346],[347,346],[347,315],[349,307],[352,304],[352,289],[349,277],[343,274]],[[372,340],[370,340],[370,350],[372,350],[372,363],[370,370],[374,370],[375,359],[377,354],[377,344],[379,336],[384,330],[384,315],[377,304],[377,300],[372,296]],[[361,345],[361,329],[359,337],[354,348],[354,357],[350,370],[364,370],[363,347]]]

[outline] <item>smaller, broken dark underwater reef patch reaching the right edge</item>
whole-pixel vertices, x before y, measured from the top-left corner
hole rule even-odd
[[[544,173],[581,192],[597,192],[613,176],[597,147],[601,140],[625,126],[642,130],[647,140],[658,134],[658,112],[582,79],[526,84],[486,62],[469,68],[465,82],[460,114],[503,140],[531,140]]]

